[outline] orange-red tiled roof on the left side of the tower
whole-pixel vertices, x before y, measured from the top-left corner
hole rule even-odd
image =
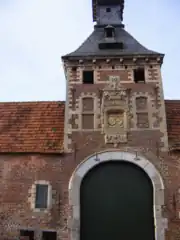
[[[64,102],[0,103],[0,152],[62,152],[64,106]]]

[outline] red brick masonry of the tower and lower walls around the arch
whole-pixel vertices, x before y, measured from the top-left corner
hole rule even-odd
[[[72,71],[74,65],[77,69]],[[113,70],[112,65],[115,66]],[[36,240],[40,239],[43,230],[55,230],[58,240],[70,240],[75,227],[69,205],[70,178],[85,158],[109,149],[143,155],[156,167],[165,185],[165,203],[161,206],[163,218],[167,219],[165,239],[179,239],[180,154],[168,151],[160,65],[153,61],[145,65],[146,84],[133,82],[135,67],[133,62],[124,66],[116,61],[109,64],[102,61],[96,65],[66,63],[65,153],[0,155],[0,239],[15,239],[20,229],[33,229]],[[95,84],[82,84],[84,69],[94,69]],[[123,86],[129,89],[128,141],[116,146],[105,143],[101,122],[101,90],[114,74],[120,76]],[[147,104],[143,105],[139,99]],[[137,117],[137,113],[141,115]],[[83,120],[83,114],[93,114],[93,118]],[[87,126],[85,129],[83,124]],[[47,211],[33,209],[33,186],[38,181],[51,186],[51,204]]]

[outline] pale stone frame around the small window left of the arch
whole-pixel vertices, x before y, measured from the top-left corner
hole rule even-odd
[[[47,185],[48,186],[48,195],[47,195],[47,208],[41,209],[35,207],[35,201],[36,201],[36,185]],[[30,202],[31,209],[34,212],[48,212],[52,208],[52,186],[49,181],[46,180],[37,180],[33,183],[31,186],[31,189],[29,191],[30,197],[28,201]]]

